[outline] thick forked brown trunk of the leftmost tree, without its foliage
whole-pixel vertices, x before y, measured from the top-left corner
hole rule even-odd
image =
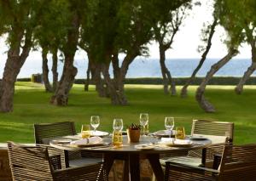
[[[32,32],[26,31],[25,44],[20,54],[20,42],[23,37],[23,30],[14,30],[15,43],[11,44],[8,51],[8,58],[3,71],[3,80],[0,91],[0,111],[10,112],[13,110],[13,99],[15,93],[15,81],[20,73],[20,68],[24,65],[26,58],[32,47]]]

